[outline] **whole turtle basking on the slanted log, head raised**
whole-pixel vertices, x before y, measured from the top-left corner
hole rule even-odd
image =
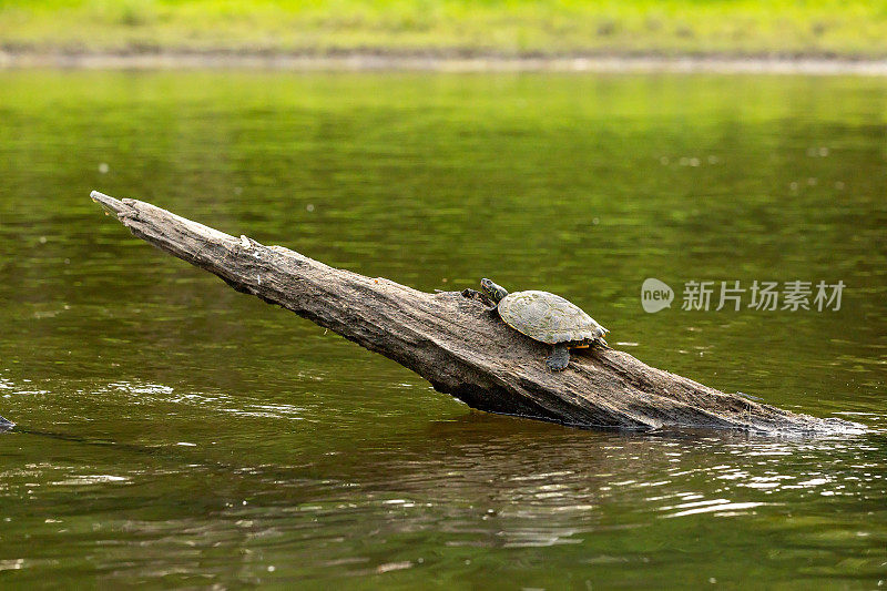
[[[480,288],[481,297],[492,303],[488,309],[508,326],[533,340],[552,345],[551,356],[546,360],[552,371],[567,369],[571,348],[608,346],[603,337],[610,330],[569,299],[536,289],[509,294],[486,277],[480,281]]]

